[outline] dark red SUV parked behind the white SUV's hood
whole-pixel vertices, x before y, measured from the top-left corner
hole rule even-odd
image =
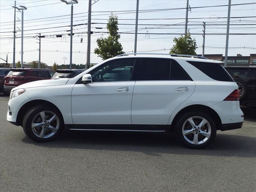
[[[4,92],[10,94],[12,88],[16,86],[31,81],[50,79],[53,74],[53,70],[43,68],[11,69],[11,71],[5,77]]]

